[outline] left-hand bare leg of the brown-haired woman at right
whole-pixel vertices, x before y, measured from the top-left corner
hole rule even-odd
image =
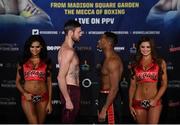
[[[138,124],[147,124],[147,110],[145,109],[135,109],[136,120]]]

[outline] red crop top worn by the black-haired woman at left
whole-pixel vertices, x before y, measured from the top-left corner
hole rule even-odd
[[[46,80],[46,67],[47,65],[42,61],[39,63],[38,67],[33,69],[33,64],[31,61],[27,61],[23,65],[24,79],[25,80]]]

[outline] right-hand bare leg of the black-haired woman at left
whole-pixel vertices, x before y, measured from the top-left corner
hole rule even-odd
[[[38,123],[43,124],[46,118],[46,107],[48,100],[40,101],[36,104],[37,115],[38,115]]]

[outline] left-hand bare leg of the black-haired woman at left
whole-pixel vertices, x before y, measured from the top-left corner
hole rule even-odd
[[[31,101],[22,100],[21,102],[23,111],[28,119],[28,122],[30,124],[37,124],[37,114],[36,114],[36,108],[35,105]]]

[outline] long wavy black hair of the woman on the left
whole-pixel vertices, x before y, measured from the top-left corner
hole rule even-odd
[[[41,61],[43,61],[45,64],[47,64],[47,69],[46,69],[47,76],[49,76],[49,74],[51,72],[51,60],[50,60],[50,58],[48,58],[47,46],[46,46],[44,39],[40,35],[31,35],[24,44],[23,55],[19,61],[19,65],[21,67],[19,70],[19,73],[20,73],[20,76],[22,79],[24,79],[23,64],[25,64],[31,58],[32,54],[30,52],[30,47],[31,47],[32,43],[35,41],[38,41],[40,43],[40,45],[42,46],[41,51],[39,53],[39,58]]]

